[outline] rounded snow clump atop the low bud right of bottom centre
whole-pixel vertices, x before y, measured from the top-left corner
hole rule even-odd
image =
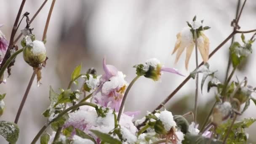
[[[166,131],[170,131],[172,127],[176,126],[176,122],[173,120],[172,113],[167,110],[160,112],[159,119],[163,123]]]

